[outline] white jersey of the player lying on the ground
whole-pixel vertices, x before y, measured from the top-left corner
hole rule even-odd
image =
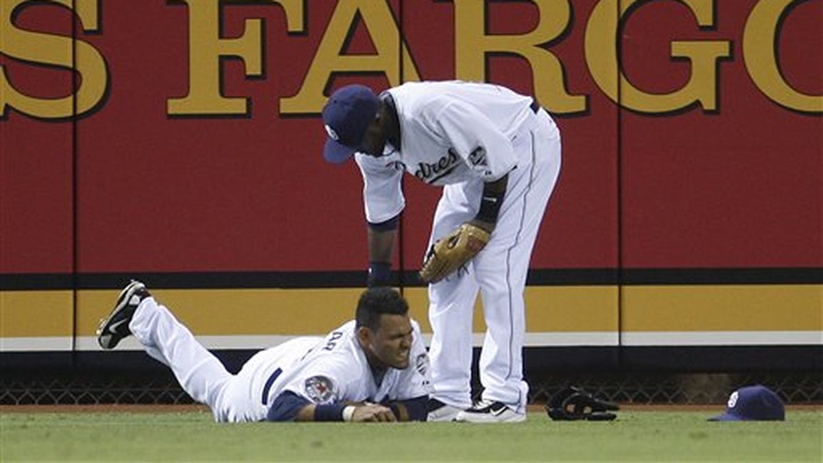
[[[269,376],[263,382],[262,395],[268,405],[285,391],[315,404],[337,402],[374,402],[406,400],[429,394],[429,359],[420,333],[412,320],[412,349],[409,367],[389,367],[379,382],[366,361],[351,320],[325,338],[298,338],[260,353],[277,358],[268,362]],[[266,363],[265,361],[263,363]],[[277,372],[280,370],[280,372]],[[260,386],[258,384],[258,386]]]

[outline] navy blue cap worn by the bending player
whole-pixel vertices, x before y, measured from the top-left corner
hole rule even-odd
[[[323,124],[328,133],[323,158],[339,164],[351,157],[374,122],[378,107],[379,100],[369,87],[347,85],[332,93],[323,106]]]

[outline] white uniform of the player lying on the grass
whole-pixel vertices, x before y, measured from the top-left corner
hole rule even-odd
[[[184,391],[208,405],[219,422],[262,421],[277,396],[286,391],[319,405],[381,403],[430,392],[429,361],[414,320],[409,367],[389,367],[379,383],[356,339],[354,320],[325,338],[296,338],[256,353],[237,375],[227,372],[153,297],[141,302],[128,328],[146,353],[170,367]]]

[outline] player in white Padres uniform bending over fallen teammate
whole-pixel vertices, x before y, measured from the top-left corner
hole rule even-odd
[[[444,185],[421,278],[429,283],[430,420],[526,419],[528,261],[560,173],[560,131],[529,96],[472,82],[408,82],[375,96],[342,87],[323,108],[327,161],[363,175],[369,284],[388,284],[403,172]],[[472,313],[481,293],[482,400],[472,406]]]

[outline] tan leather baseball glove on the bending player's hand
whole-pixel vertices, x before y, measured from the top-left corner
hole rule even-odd
[[[472,260],[490,238],[491,234],[481,227],[463,223],[431,246],[420,270],[420,278],[425,283],[437,283],[448,277]]]

